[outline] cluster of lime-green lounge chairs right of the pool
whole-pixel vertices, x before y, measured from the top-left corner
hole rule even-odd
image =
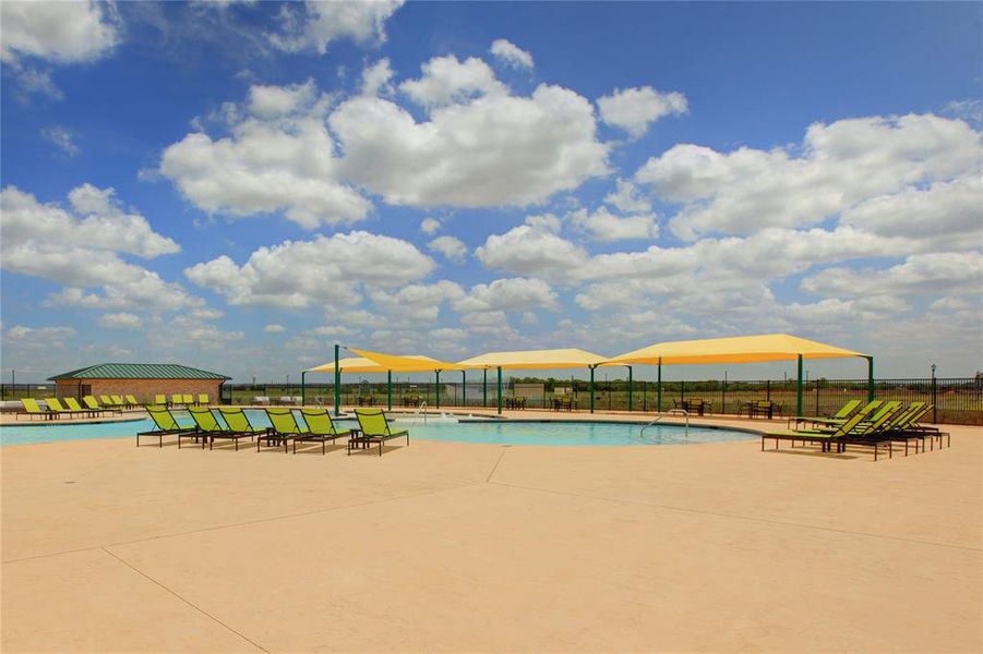
[[[942,447],[950,444],[950,436],[940,432],[938,427],[926,426],[919,423],[930,411],[932,404],[926,402],[912,402],[904,407],[902,402],[873,400],[860,407],[859,400],[847,402],[836,414],[831,416],[792,416],[789,419],[789,427],[781,432],[765,432],[762,434],[762,450],[766,440],[775,440],[778,449],[780,441],[791,441],[792,447],[796,443],[803,445],[819,444],[823,451],[837,452],[847,450],[847,446],[872,447],[874,460],[886,446],[888,457],[894,455],[894,444],[904,445],[904,456],[911,445],[914,445],[915,453],[924,452],[926,446],[935,449],[935,443]],[[791,428],[792,424],[794,428]]]

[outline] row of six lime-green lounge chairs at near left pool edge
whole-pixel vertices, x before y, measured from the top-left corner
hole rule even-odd
[[[158,447],[164,447],[164,438],[175,436],[178,448],[185,439],[200,443],[202,449],[206,444],[208,449],[213,449],[216,439],[228,439],[235,443],[238,451],[239,440],[249,438],[255,441],[257,452],[263,445],[283,446],[284,451],[288,452],[292,444],[296,455],[298,443],[320,443],[323,455],[327,451],[328,441],[334,445],[335,441],[345,439],[349,455],[353,449],[377,445],[381,457],[386,440],[405,437],[409,445],[409,432],[394,431],[381,409],[356,410],[359,427],[346,431],[338,431],[326,409],[300,409],[303,420],[298,421],[292,409],[271,407],[266,409],[266,415],[272,426],[265,428],[253,425],[239,407],[218,407],[217,411],[218,415],[208,407],[189,407],[188,412],[194,425],[181,426],[167,407],[147,407],[155,428],[136,434],[136,446],[140,446],[141,437],[151,437],[157,438]],[[218,420],[219,416],[221,421]]]

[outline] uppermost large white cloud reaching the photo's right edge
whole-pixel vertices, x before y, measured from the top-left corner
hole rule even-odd
[[[798,148],[721,154],[676,145],[636,173],[681,205],[670,229],[684,239],[807,227],[872,198],[983,169],[983,138],[933,114],[840,120],[808,128]]]

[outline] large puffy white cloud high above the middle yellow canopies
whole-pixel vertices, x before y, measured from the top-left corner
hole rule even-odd
[[[424,122],[357,97],[328,120],[345,177],[394,205],[527,205],[609,171],[590,102],[559,86],[439,107]]]

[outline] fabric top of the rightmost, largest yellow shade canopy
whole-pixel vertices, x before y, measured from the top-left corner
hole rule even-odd
[[[759,363],[789,359],[836,359],[866,356],[819,341],[788,334],[705,338],[656,343],[609,360],[611,363]]]

